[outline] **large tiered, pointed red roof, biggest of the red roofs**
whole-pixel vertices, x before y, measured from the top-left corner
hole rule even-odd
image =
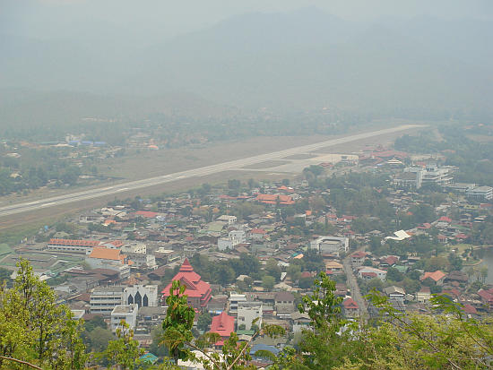
[[[211,286],[203,281],[201,276],[194,271],[187,258],[173,280],[179,280],[182,284],[186,285],[184,294],[187,296],[188,304],[192,305],[195,310],[202,310],[211,300]],[[169,297],[169,288],[171,288],[171,283],[161,291],[163,301]]]

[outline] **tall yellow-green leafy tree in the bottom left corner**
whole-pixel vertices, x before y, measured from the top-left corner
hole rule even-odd
[[[56,294],[21,260],[13,288],[0,288],[0,356],[46,367],[83,368],[82,321],[74,320]],[[0,358],[0,366],[4,360]]]

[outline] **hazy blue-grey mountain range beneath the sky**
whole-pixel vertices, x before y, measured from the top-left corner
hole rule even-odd
[[[82,93],[140,97],[136,101],[194,96],[238,108],[493,116],[489,21],[423,16],[350,22],[304,8],[234,16],[151,47],[114,33],[96,42],[96,34],[0,34],[0,86],[6,95],[11,88],[69,90],[81,91],[74,99]],[[118,98],[116,106],[140,109],[126,99],[132,98]],[[10,100],[0,103],[4,114],[27,101]]]

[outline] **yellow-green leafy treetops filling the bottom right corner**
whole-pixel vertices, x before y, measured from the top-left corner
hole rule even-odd
[[[404,314],[385,296],[368,296],[386,317],[358,331],[354,343],[365,343],[357,356],[345,356],[339,370],[487,369],[493,356],[491,320],[478,322],[463,314],[448,297],[431,298],[432,315]],[[371,350],[367,350],[371,348]]]

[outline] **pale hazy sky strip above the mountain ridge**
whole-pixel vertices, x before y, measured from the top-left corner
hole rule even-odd
[[[70,37],[84,28],[133,30],[149,42],[199,30],[231,15],[316,6],[348,20],[431,15],[493,19],[491,0],[0,0],[0,30],[29,37]]]

